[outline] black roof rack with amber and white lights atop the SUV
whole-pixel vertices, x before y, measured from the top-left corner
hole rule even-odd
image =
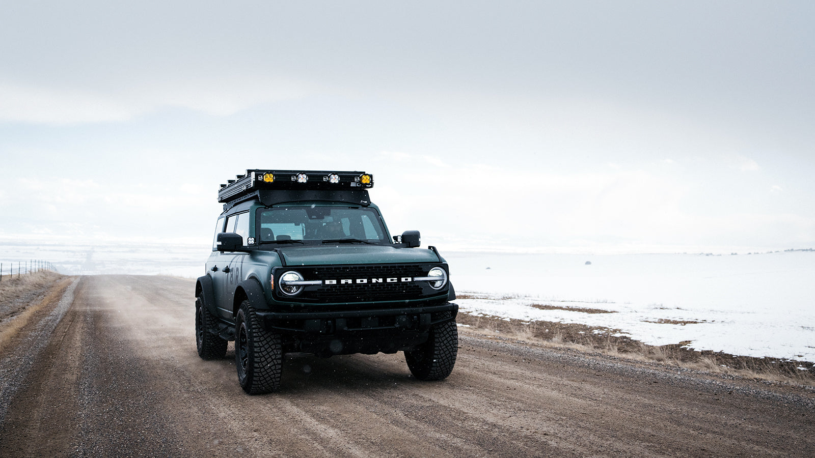
[[[224,209],[257,197],[264,205],[293,200],[337,200],[370,205],[373,175],[320,170],[246,170],[218,189]]]

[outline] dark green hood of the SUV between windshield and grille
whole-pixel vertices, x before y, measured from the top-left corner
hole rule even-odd
[[[443,262],[431,249],[398,248],[369,244],[290,246],[280,249],[280,253],[283,253],[287,266]]]

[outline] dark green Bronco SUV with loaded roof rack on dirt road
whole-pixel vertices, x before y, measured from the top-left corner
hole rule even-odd
[[[456,293],[419,232],[390,237],[371,174],[247,170],[221,185],[206,275],[196,281],[203,359],[235,341],[240,386],[280,386],[283,355],[403,351],[420,380],[456,363]]]

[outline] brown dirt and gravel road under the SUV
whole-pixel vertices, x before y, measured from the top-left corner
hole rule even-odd
[[[496,341],[451,377],[287,358],[249,396],[203,361],[192,280],[88,276],[0,355],[0,456],[813,456],[812,390]],[[48,320],[51,322],[48,322]]]

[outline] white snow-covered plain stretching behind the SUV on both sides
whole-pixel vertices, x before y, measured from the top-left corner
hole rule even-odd
[[[619,329],[652,345],[815,362],[815,252],[702,254],[456,253],[442,249],[471,314]],[[9,263],[54,262],[68,275],[196,278],[202,244],[81,244],[0,240]],[[587,264],[586,262],[591,262]],[[531,304],[575,310],[540,310]],[[579,308],[613,313],[589,314]]]

